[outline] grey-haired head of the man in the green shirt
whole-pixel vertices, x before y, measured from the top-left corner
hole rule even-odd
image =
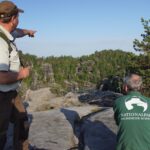
[[[129,91],[139,91],[142,86],[142,78],[137,74],[130,74],[125,77],[124,84],[128,87]]]

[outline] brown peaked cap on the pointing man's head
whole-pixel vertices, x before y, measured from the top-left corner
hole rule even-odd
[[[11,1],[2,1],[0,2],[0,18],[6,18],[18,14],[19,12],[23,13],[22,9],[19,9]]]

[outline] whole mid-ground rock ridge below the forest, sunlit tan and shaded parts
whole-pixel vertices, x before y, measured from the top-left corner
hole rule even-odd
[[[83,94],[69,92],[65,96],[56,97],[50,88],[42,88],[36,91],[28,90],[25,102],[29,112],[45,111],[61,107],[84,106],[89,104],[100,107],[112,107],[114,101],[122,96],[111,91],[92,91]]]

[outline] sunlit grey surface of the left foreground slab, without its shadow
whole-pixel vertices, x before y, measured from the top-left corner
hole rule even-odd
[[[60,110],[35,112],[32,117],[29,135],[32,145],[47,150],[67,150],[76,144],[72,126]]]

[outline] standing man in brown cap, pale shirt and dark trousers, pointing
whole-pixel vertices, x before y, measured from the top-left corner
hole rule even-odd
[[[0,2],[0,150],[4,149],[11,117],[16,129],[14,150],[28,150],[28,118],[19,99],[18,89],[20,81],[29,76],[29,68],[20,67],[17,47],[11,35],[19,23],[21,12],[23,10],[11,1]],[[19,128],[22,129],[21,132]]]

